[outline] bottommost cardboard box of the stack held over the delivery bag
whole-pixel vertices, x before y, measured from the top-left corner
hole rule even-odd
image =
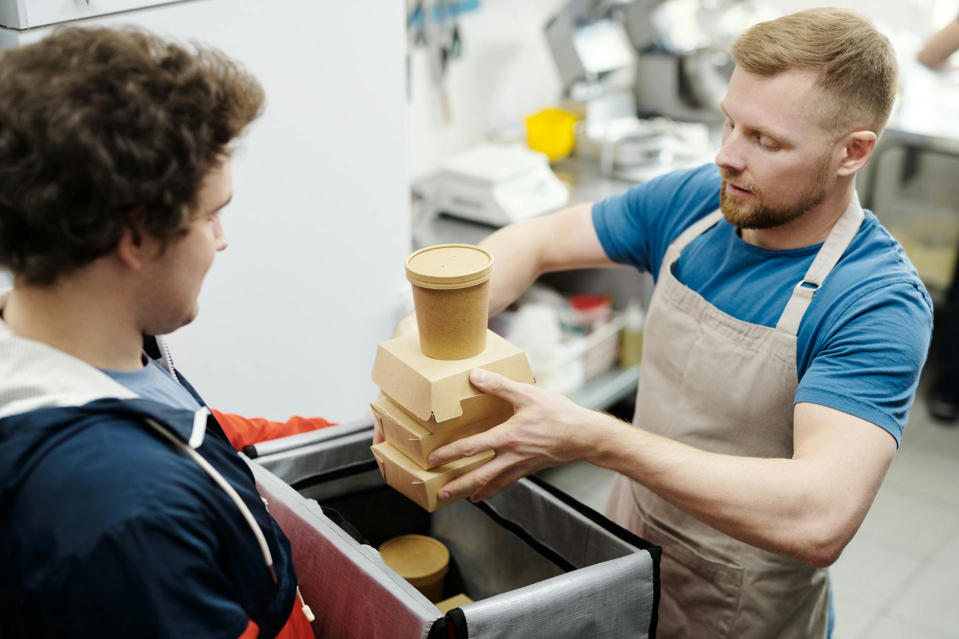
[[[439,489],[456,477],[465,475],[473,468],[479,468],[493,458],[493,451],[487,450],[473,457],[464,457],[432,470],[424,470],[387,442],[380,442],[370,447],[386,484],[405,494],[428,513],[468,497],[469,494],[463,493],[452,499],[440,501],[437,494]]]

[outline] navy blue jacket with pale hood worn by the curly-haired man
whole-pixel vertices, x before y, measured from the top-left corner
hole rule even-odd
[[[192,412],[122,393],[71,405],[105,376],[65,354],[36,368],[50,353],[33,345],[0,326],[0,636],[235,638],[249,620],[274,636],[296,596],[290,543],[216,420],[197,451],[253,513],[275,583],[237,505],[147,423],[187,442]]]

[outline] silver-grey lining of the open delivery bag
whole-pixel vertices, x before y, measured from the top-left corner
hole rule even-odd
[[[285,498],[295,495],[296,500],[308,504],[312,503],[309,497],[318,498],[324,507],[342,513],[374,545],[385,540],[377,537],[397,534],[403,528],[399,524],[415,521],[416,530],[407,526],[403,532],[435,536],[450,548],[455,565],[451,565],[448,587],[460,588],[456,592],[465,592],[477,601],[441,617],[382,561],[370,559],[376,554],[373,549],[341,533],[322,513],[317,515],[316,505],[306,509],[308,516],[322,517],[321,535],[335,530],[338,544],[352,547],[352,552],[341,552],[342,559],[363,560],[371,571],[391,576],[373,579],[374,590],[386,590],[390,605],[409,604],[411,613],[405,614],[425,622],[423,634],[391,627],[382,636],[400,639],[428,633],[440,639],[453,636],[450,628],[459,629],[456,639],[655,636],[658,547],[535,477],[479,504],[462,501],[426,513],[383,483],[379,471],[371,466],[375,463],[369,452],[370,437],[367,427],[298,447],[278,445],[276,452],[261,455],[256,462],[295,484],[299,493],[287,487]],[[388,513],[381,511],[381,506],[389,509]],[[373,528],[383,530],[373,530],[371,535],[368,520],[379,513],[383,513],[379,517],[383,521],[398,520],[397,527],[392,530],[374,521]],[[310,525],[315,522],[310,520]],[[495,560],[498,555],[503,561]],[[426,614],[424,619],[421,615],[430,608],[432,616]],[[377,635],[363,630],[349,636]]]

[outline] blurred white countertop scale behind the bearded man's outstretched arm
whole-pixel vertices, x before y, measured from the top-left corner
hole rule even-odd
[[[439,213],[505,226],[562,208],[570,190],[543,153],[521,145],[486,143],[446,159],[436,176]]]

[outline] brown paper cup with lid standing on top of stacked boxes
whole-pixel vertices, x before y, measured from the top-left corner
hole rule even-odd
[[[439,244],[407,258],[423,353],[466,359],[486,348],[493,256],[470,244]]]

